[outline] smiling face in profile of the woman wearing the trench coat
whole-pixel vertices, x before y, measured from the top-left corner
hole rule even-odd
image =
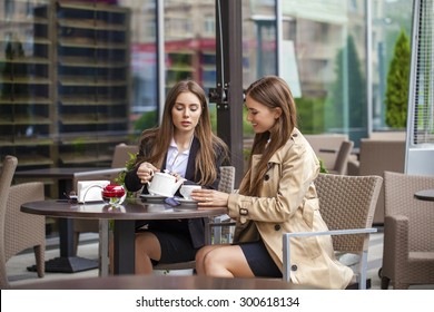
[[[246,97],[246,119],[251,124],[256,134],[268,131],[274,126],[282,111],[279,108],[268,108],[249,96]]]

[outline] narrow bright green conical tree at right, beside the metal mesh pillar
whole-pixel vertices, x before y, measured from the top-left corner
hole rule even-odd
[[[410,40],[402,30],[387,72],[386,124],[392,128],[405,128],[407,125],[410,58]]]

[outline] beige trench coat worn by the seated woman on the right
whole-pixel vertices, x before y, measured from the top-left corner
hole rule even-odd
[[[253,170],[260,155],[253,158]],[[283,233],[325,231],[313,181],[319,162],[304,136],[294,129],[292,139],[269,160],[260,197],[230,194],[229,216],[237,220],[235,242],[264,241],[282,271]],[[255,172],[253,172],[255,176]],[[353,271],[333,253],[331,236],[292,238],[290,279],[320,289],[345,289]]]

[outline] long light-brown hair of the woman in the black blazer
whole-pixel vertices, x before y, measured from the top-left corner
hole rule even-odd
[[[149,150],[149,155],[145,155],[137,159],[137,164],[149,162],[156,167],[160,168],[165,159],[165,155],[169,149],[171,138],[174,137],[174,120],[171,110],[175,106],[176,99],[181,92],[191,92],[198,97],[201,104],[201,115],[199,123],[195,128],[195,137],[198,138],[200,147],[195,159],[195,176],[200,174],[200,185],[210,185],[217,178],[216,168],[216,152],[224,153],[225,157],[228,155],[227,145],[211,130],[211,121],[209,117],[209,108],[204,89],[193,80],[183,80],[177,82],[167,94],[165,109],[162,113],[161,125],[156,128],[146,129],[140,137],[140,146],[147,144],[144,152]]]

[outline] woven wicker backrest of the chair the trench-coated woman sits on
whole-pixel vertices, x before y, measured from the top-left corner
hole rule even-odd
[[[328,230],[372,226],[382,177],[319,174],[314,183],[319,198],[319,213]],[[368,235],[332,237],[336,252],[359,254],[368,247]]]

